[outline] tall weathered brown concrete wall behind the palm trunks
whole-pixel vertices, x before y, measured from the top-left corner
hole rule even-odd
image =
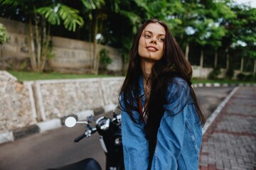
[[[0,67],[4,69],[28,69],[30,68],[26,24],[0,18],[0,23],[6,26],[9,33],[9,42],[3,45]],[[46,63],[46,70],[55,72],[89,73],[92,68],[93,45],[82,40],[51,37],[53,50],[52,58]],[[97,45],[97,55],[100,50],[109,52],[112,63],[107,65],[107,71],[122,72],[122,55],[118,49],[105,45]],[[26,60],[25,60],[26,59]],[[15,61],[14,61],[15,60]],[[24,66],[26,64],[26,66]],[[22,67],[22,68],[21,68]]]

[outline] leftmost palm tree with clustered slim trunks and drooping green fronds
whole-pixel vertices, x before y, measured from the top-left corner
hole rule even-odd
[[[51,0],[0,0],[3,6],[23,11],[28,21],[28,55],[34,72],[42,72],[50,50],[50,25],[60,25],[75,31],[83,20],[79,11]]]

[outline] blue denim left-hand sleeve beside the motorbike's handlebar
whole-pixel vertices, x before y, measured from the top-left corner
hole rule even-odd
[[[129,114],[122,111],[122,145],[125,170],[146,170],[149,164],[149,143],[143,123],[134,123]],[[134,112],[135,119],[139,113]]]

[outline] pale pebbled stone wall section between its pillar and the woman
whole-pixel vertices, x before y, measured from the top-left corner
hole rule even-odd
[[[37,120],[75,115],[118,101],[123,77],[34,81]]]

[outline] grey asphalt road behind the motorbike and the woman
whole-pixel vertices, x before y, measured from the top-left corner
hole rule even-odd
[[[195,92],[208,116],[232,89],[233,87],[200,87]],[[87,157],[96,159],[102,169],[105,169],[105,154],[97,133],[78,143],[73,142],[84,130],[85,125],[78,124],[74,128],[63,127],[1,144],[0,170],[43,170]]]

